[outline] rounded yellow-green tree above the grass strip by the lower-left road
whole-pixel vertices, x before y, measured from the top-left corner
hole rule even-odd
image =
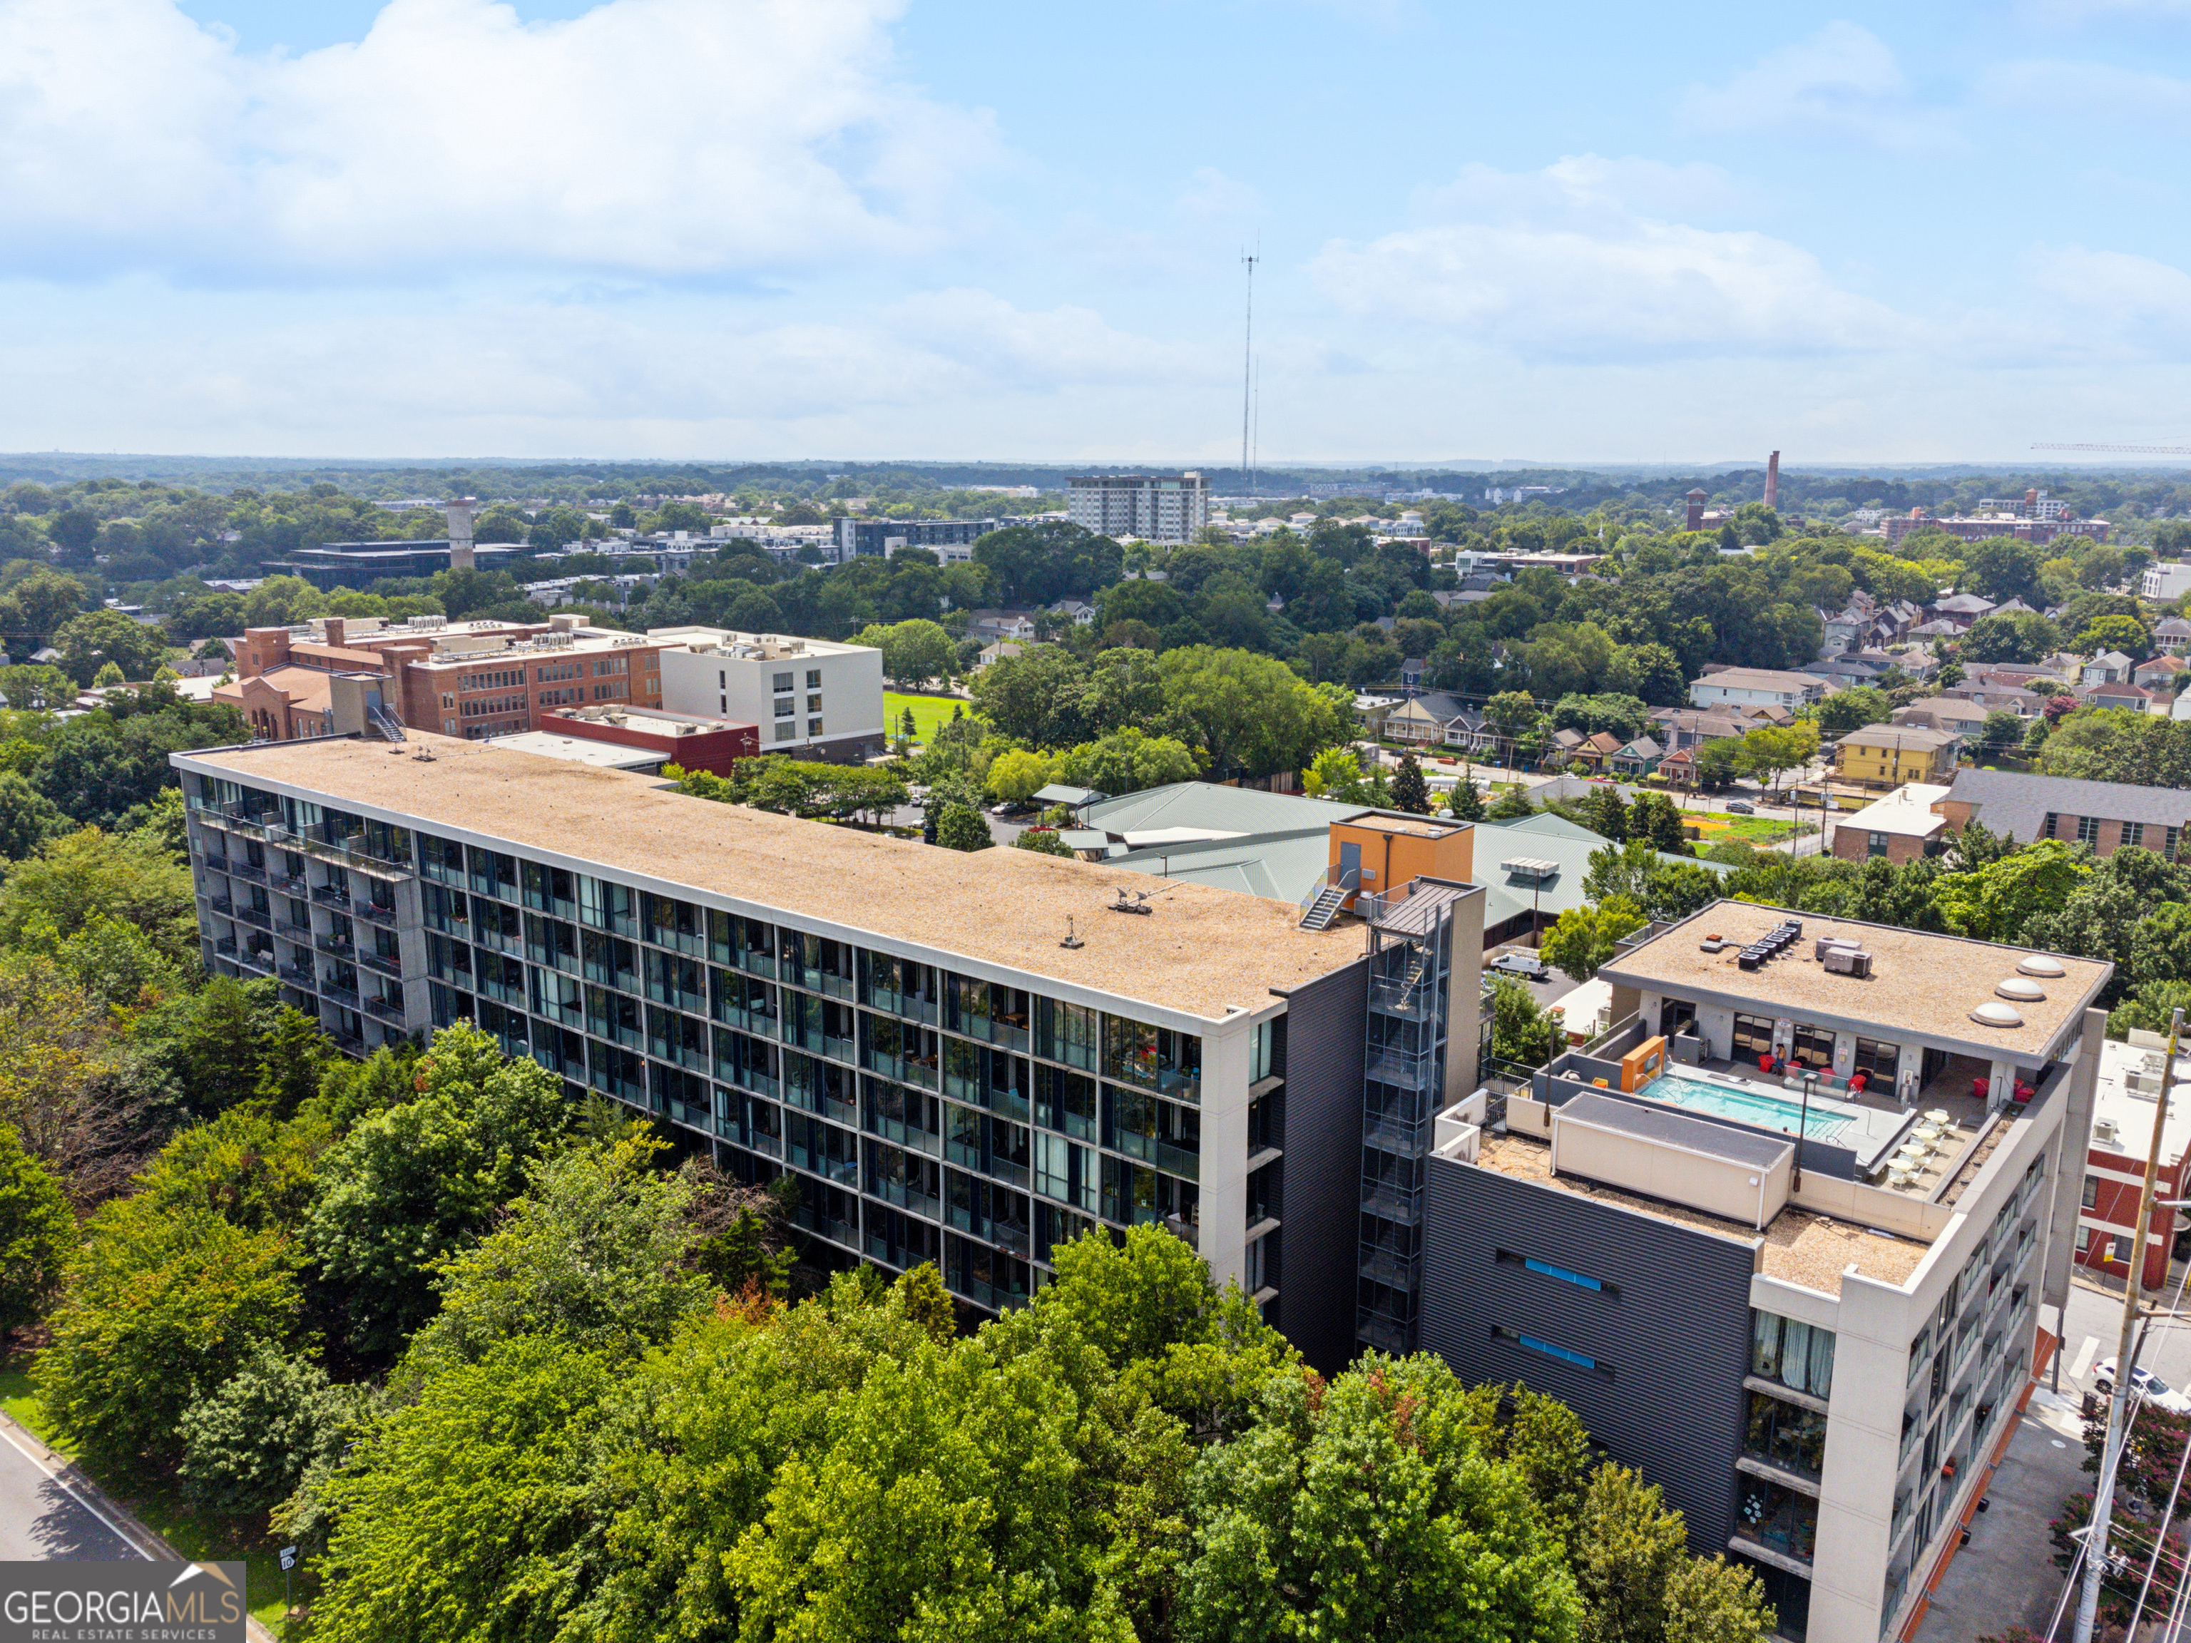
[[[298,1255],[276,1231],[245,1231],[204,1207],[116,1198],[70,1255],[33,1380],[55,1428],[88,1457],[171,1459],[182,1415],[228,1380],[252,1345],[287,1345],[302,1292]]]

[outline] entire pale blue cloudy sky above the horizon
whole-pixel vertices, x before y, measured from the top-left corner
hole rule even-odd
[[[0,447],[2184,443],[2191,0],[0,0]]]

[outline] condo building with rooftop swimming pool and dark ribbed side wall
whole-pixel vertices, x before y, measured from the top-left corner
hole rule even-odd
[[[1422,1341],[1567,1400],[1781,1634],[1902,1636],[2068,1295],[2110,966],[1716,903],[1599,975],[1619,1025],[1439,1117]]]

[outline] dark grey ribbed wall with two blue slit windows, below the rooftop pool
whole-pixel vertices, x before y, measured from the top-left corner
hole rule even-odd
[[[1422,1345],[1470,1385],[1527,1380],[1569,1404],[1597,1444],[1680,1507],[1691,1547],[1724,1551],[1751,1249],[1448,1159],[1431,1159],[1424,1222]],[[1501,1249],[1617,1284],[1619,1297],[1501,1262]],[[1494,1341],[1494,1325],[1613,1365],[1613,1378]]]

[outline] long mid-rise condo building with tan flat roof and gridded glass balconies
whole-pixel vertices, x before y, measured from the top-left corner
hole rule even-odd
[[[432,734],[175,765],[208,966],[353,1052],[478,1021],[793,1174],[839,1260],[936,1260],[979,1306],[1082,1227],[1161,1222],[1321,1365],[1413,1328],[1431,1117],[1477,1078],[1472,885],[1391,874],[1304,929]]]

